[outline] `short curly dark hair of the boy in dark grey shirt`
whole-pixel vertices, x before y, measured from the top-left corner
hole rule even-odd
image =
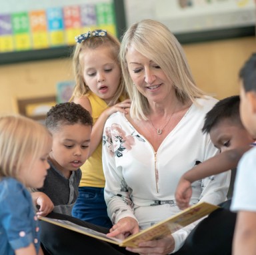
[[[59,103],[51,107],[45,120],[45,125],[51,132],[58,130],[63,125],[77,123],[93,126],[93,119],[86,109],[73,102]]]

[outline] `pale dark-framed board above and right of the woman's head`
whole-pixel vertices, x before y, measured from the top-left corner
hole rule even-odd
[[[255,0],[125,0],[127,26],[161,21],[180,43],[255,35]]]

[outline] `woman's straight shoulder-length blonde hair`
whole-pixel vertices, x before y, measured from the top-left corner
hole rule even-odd
[[[155,62],[167,79],[173,84],[179,101],[195,102],[196,98],[206,95],[196,85],[183,49],[176,37],[159,21],[145,19],[135,23],[123,35],[120,48],[120,62],[123,78],[131,99],[131,117],[147,120],[149,103],[133,85],[129,75],[126,55],[129,47]]]

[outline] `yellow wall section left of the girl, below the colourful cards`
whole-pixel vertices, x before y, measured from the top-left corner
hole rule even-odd
[[[59,81],[73,79],[70,59],[0,66],[0,114],[17,111],[16,99],[56,95]]]

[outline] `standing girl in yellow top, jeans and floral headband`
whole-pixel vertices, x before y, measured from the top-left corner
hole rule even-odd
[[[89,158],[81,167],[79,197],[72,215],[99,226],[111,228],[104,200],[105,177],[101,160],[103,127],[117,111],[126,114],[125,85],[119,64],[120,43],[105,30],[89,31],[76,38],[73,54],[75,89],[71,100],[93,117]]]

